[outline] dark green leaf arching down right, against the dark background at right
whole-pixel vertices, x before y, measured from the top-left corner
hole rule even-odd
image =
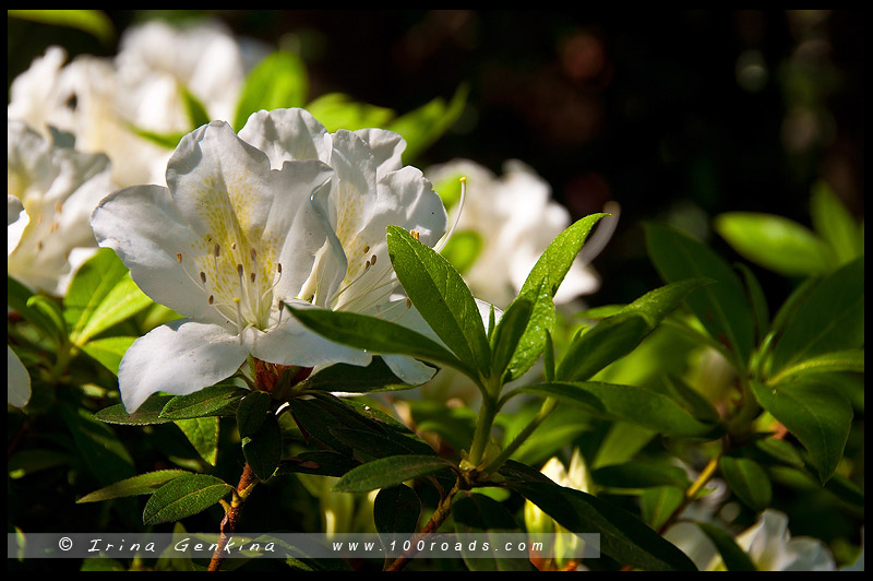
[[[646,225],[648,254],[666,282],[704,276],[716,281],[689,295],[685,303],[709,334],[744,366],[752,353],[751,307],[733,270],[707,246],[658,224]]]

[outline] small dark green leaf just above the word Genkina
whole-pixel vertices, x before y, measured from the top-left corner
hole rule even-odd
[[[145,503],[143,524],[172,522],[202,512],[227,496],[234,487],[207,474],[187,474],[168,482]]]

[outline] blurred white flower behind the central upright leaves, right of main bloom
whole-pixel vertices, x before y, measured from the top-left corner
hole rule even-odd
[[[455,159],[426,173],[439,185],[466,176],[467,195],[457,218],[455,236],[476,233],[481,247],[464,278],[474,295],[506,307],[521,290],[530,269],[549,244],[570,226],[570,213],[552,200],[549,185],[518,161],[504,164],[501,177],[468,161]],[[600,221],[591,238],[566,274],[554,296],[564,304],[600,286],[597,273],[586,265],[609,240],[618,222],[618,204]]]

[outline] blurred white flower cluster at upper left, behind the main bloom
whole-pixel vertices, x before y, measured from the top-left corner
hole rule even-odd
[[[65,51],[49,47],[12,82],[8,108],[44,135],[55,127],[72,133],[77,150],[108,155],[120,187],[163,183],[172,154],[135,129],[189,131],[182,86],[213,119],[229,118],[248,69],[265,54],[243,50],[217,24],[151,22],[125,31],[120,46],[115,60],[81,55],[67,64]]]

